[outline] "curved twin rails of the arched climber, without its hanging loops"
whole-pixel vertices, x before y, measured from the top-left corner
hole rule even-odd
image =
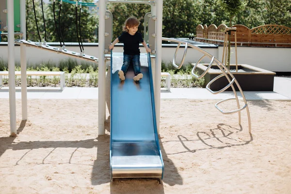
[[[187,43],[187,42],[185,42],[185,41],[177,40],[177,39],[174,39],[174,38],[164,38],[164,37],[162,37],[162,40],[164,40],[164,41],[169,41],[169,42],[176,42],[176,43],[184,43],[184,44]],[[195,49],[195,50],[200,51],[201,53],[203,53],[204,55],[208,56],[209,58],[212,58],[212,57],[213,57],[212,54],[210,54],[209,52],[207,52],[207,51],[204,50],[204,49],[201,49],[201,48],[197,47],[196,45],[193,45],[193,44],[188,43],[187,46],[189,46],[189,47],[191,47],[191,48],[193,48],[193,49]],[[230,72],[230,71],[226,68],[226,66],[225,66],[224,64],[222,64],[218,59],[215,58],[214,61],[215,61],[215,63],[217,64],[217,66],[219,67],[219,69],[220,69],[220,70],[223,72],[223,74],[226,76],[227,81],[228,81],[228,82],[231,82],[231,81],[233,80],[233,78],[234,78],[234,76],[231,74],[231,72]],[[229,76],[232,78],[232,80],[229,78]],[[243,92],[242,92],[242,88],[241,88],[240,84],[238,83],[238,81],[237,81],[236,79],[234,79],[233,81],[236,83],[236,85],[237,85],[237,87],[238,87],[238,89],[239,89],[239,91],[240,91],[240,93],[241,93],[241,95],[242,95],[243,101],[244,101],[244,103],[247,105],[247,102],[246,102],[246,99],[245,99],[244,94],[243,94]],[[239,108],[240,108],[239,99],[238,99],[238,96],[237,96],[237,93],[236,93],[236,91],[235,91],[235,88],[234,88],[233,84],[231,84],[231,88],[232,88],[232,90],[233,90],[233,93],[234,93],[235,99],[236,99],[236,101],[237,101],[238,110],[240,110],[240,109],[239,109]],[[249,112],[248,106],[246,106],[246,112],[247,112],[247,117],[248,117],[249,133],[251,133],[251,119],[250,119],[250,112]],[[238,111],[238,113],[239,113],[239,124],[241,125],[241,112]]]

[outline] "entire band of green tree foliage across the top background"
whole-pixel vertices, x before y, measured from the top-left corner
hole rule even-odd
[[[93,2],[96,0],[86,0]],[[38,29],[44,41],[44,23],[41,0],[34,0]],[[45,3],[47,41],[58,42],[53,19],[53,0]],[[113,13],[113,39],[122,32],[122,26],[129,16],[141,21],[139,32],[144,32],[144,16],[150,12],[145,4],[108,3],[107,8]],[[96,8],[82,7],[81,35],[83,42],[97,42],[98,17]],[[56,1],[55,15],[58,22],[59,0]],[[79,10],[78,10],[79,14]],[[61,12],[61,30],[65,42],[77,42],[75,24],[75,6],[63,2]],[[225,23],[243,24],[248,28],[264,24],[278,24],[291,27],[291,0],[163,0],[163,37],[187,37],[195,33],[198,24]],[[26,0],[27,39],[39,41],[32,0]],[[3,38],[5,39],[5,38]]]

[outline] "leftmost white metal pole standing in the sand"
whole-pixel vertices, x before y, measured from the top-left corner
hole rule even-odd
[[[14,0],[7,0],[8,9],[8,71],[10,135],[16,136],[16,94],[15,94],[15,53],[14,53]]]

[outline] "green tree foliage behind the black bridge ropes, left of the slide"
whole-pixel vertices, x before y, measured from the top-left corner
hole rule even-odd
[[[93,0],[87,0],[87,2],[93,2]],[[49,3],[43,3],[44,14],[47,31],[47,42],[59,42],[58,34],[56,32],[54,18],[53,18],[53,1]],[[35,12],[37,18],[38,29],[40,31],[41,39],[45,39],[45,29],[43,22],[43,15],[41,10],[41,0],[34,0]],[[55,16],[57,27],[59,28],[59,1],[55,4]],[[78,28],[79,28],[79,7],[78,7]],[[33,41],[39,41],[32,0],[27,0],[26,3],[26,27],[27,27],[27,39]],[[83,6],[81,8],[81,36],[83,42],[95,41],[95,30],[98,25],[98,19],[94,9],[89,10],[89,7]],[[65,42],[78,42],[77,29],[76,29],[76,14],[75,5],[65,3],[62,4],[61,16],[60,16],[60,28],[63,34]],[[79,30],[79,29],[78,29]],[[78,31],[79,32],[79,31]],[[80,36],[80,34],[79,34]]]

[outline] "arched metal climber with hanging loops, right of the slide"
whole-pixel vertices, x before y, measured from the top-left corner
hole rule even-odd
[[[176,42],[176,43],[178,43],[178,47],[177,47],[177,49],[176,49],[176,52],[175,52],[175,55],[174,55],[174,59],[173,59],[173,65],[174,65],[176,68],[178,68],[178,69],[181,68],[182,65],[183,65],[183,62],[184,62],[184,60],[185,60],[185,56],[186,56],[186,53],[187,53],[187,49],[188,49],[188,47],[191,47],[191,48],[193,48],[193,49],[195,49],[195,50],[198,50],[198,51],[200,51],[200,52],[203,54],[202,57],[201,57],[201,58],[196,62],[196,64],[194,65],[194,67],[193,67],[193,69],[192,69],[192,71],[191,71],[191,74],[192,74],[195,78],[197,78],[197,79],[202,78],[202,77],[203,77],[203,76],[204,76],[204,75],[209,71],[209,69],[210,69],[210,67],[211,67],[211,65],[212,65],[213,63],[215,63],[215,64],[217,65],[217,67],[222,71],[222,74],[219,75],[219,76],[217,76],[217,77],[214,78],[213,80],[211,80],[211,81],[207,84],[206,89],[207,89],[208,91],[210,91],[210,93],[212,93],[212,94],[215,95],[215,94],[222,93],[222,92],[225,91],[227,88],[231,87],[232,90],[233,90],[233,93],[234,93],[235,98],[227,98],[227,99],[221,100],[221,101],[219,101],[219,102],[217,102],[217,103],[215,104],[215,108],[216,108],[217,110],[219,110],[219,111],[220,111],[221,113],[223,113],[223,114],[239,113],[239,125],[241,125],[241,111],[244,110],[244,109],[246,109],[246,112],[247,112],[247,118],[248,118],[249,133],[251,133],[251,117],[250,117],[250,112],[249,112],[249,108],[248,108],[247,101],[246,101],[246,99],[245,99],[245,97],[244,97],[244,94],[243,94],[243,91],[242,91],[242,88],[241,88],[240,84],[239,84],[238,81],[235,79],[235,77],[231,74],[231,72],[229,71],[229,69],[226,68],[226,66],[225,66],[222,62],[220,62],[217,58],[215,58],[215,57],[214,57],[213,55],[211,55],[209,52],[207,52],[206,50],[201,49],[201,48],[199,48],[199,47],[197,47],[197,46],[195,46],[195,45],[193,45],[193,44],[190,44],[190,43],[188,43],[188,42],[186,42],[186,41],[177,40],[177,39],[174,39],[174,38],[162,38],[162,40],[164,40],[164,41],[169,41],[169,42]],[[175,61],[176,61],[176,56],[177,56],[178,48],[180,47],[181,44],[185,44],[185,50],[184,50],[184,54],[183,54],[182,60],[181,60],[181,62],[180,62],[180,65],[176,65],[176,63],[175,63]],[[196,74],[195,74],[195,69],[196,69],[197,65],[201,62],[201,60],[202,60],[203,58],[205,58],[205,57],[208,57],[208,58],[211,60],[211,61],[210,61],[210,64],[208,65],[207,69],[206,69],[206,70],[205,70],[201,75],[196,75]],[[219,90],[219,91],[216,91],[216,92],[212,91],[212,90],[210,89],[210,85],[211,85],[211,83],[213,83],[214,81],[216,81],[216,80],[218,80],[219,78],[222,78],[222,77],[226,77],[226,79],[227,79],[227,81],[229,82],[229,84],[227,84],[226,87],[224,87],[223,89],[221,89],[221,90]],[[241,95],[242,95],[242,98],[243,98],[243,101],[244,101],[244,105],[243,105],[242,107],[240,106],[239,98],[238,98],[238,95],[237,95],[237,93],[236,93],[236,90],[235,90],[235,88],[234,88],[233,83],[235,83],[235,84],[237,85],[237,87],[238,87],[238,89],[239,89],[239,91],[240,91],[240,93],[241,93]],[[236,102],[237,102],[237,109],[236,109],[236,110],[234,110],[234,111],[229,111],[229,112],[225,112],[225,111],[221,110],[221,109],[218,107],[218,105],[219,105],[220,103],[223,103],[223,102],[228,101],[228,100],[236,100]]]

